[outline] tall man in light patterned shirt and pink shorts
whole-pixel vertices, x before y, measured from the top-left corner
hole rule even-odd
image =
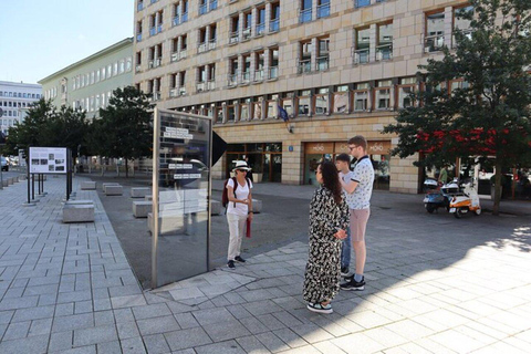
[[[356,256],[356,272],[345,278],[341,284],[343,290],[365,289],[365,261],[367,250],[365,247],[365,230],[371,215],[371,196],[373,194],[374,168],[367,155],[367,140],[362,135],[356,135],[348,140],[351,155],[357,159],[348,184],[341,180],[343,188],[352,194],[350,198],[351,237],[354,254]]]

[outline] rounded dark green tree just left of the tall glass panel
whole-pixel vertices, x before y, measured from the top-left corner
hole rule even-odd
[[[100,142],[102,156],[128,160],[149,156],[153,146],[152,110],[148,96],[127,86],[113,92],[106,108],[100,110],[101,122],[93,122],[92,139]]]

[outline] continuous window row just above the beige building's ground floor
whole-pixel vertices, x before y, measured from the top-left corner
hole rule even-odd
[[[450,82],[449,92],[468,84],[462,80]],[[424,90],[425,84],[416,77],[381,80],[374,83],[357,83],[269,94],[264,96],[229,100],[178,111],[208,115],[217,124],[238,121],[278,118],[279,107],[290,117],[330,114],[395,111],[416,104],[412,94]]]

